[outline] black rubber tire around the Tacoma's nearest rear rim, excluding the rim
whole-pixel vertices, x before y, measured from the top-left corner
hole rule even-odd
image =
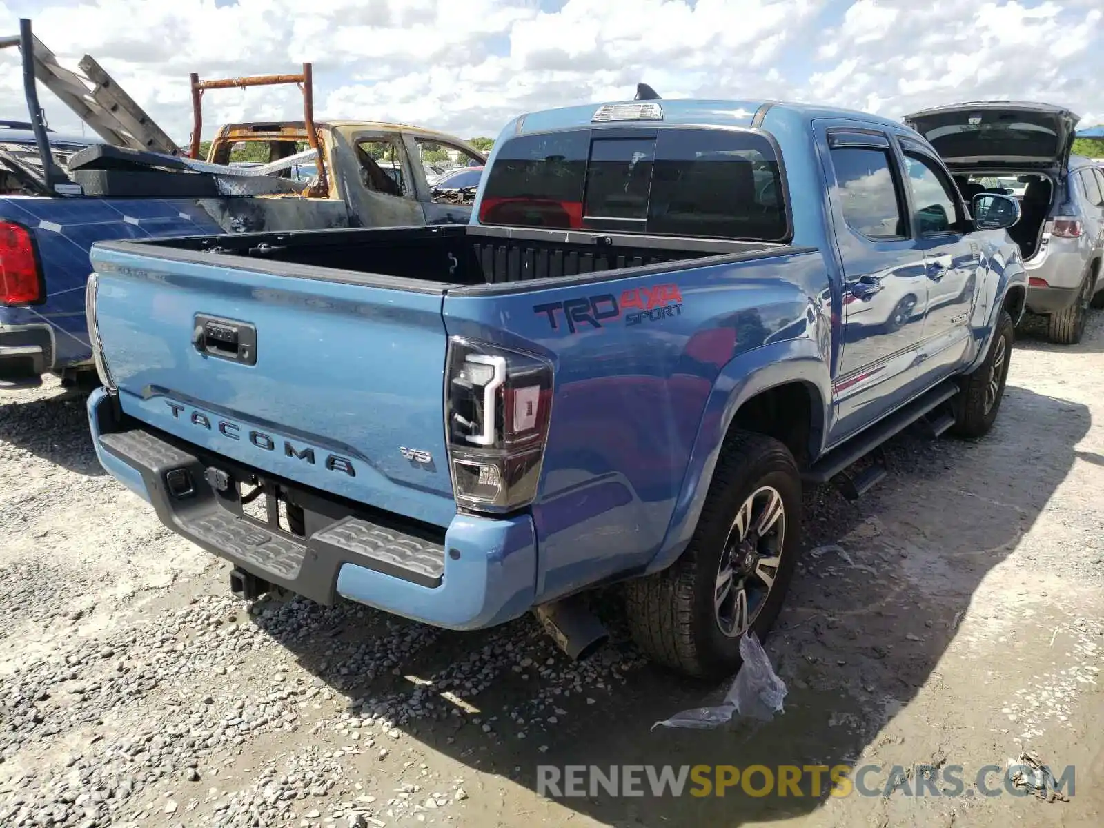
[[[782,497],[785,523],[774,585],[751,629],[762,640],[774,625],[802,544],[802,478],[784,444],[762,434],[734,431],[718,458],[686,551],[668,569],[626,584],[629,628],[652,661],[701,678],[730,676],[739,669],[740,638],[721,631],[713,592],[736,511],[762,486],[774,487]]]

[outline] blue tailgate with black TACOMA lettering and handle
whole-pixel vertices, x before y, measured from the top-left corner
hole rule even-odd
[[[448,526],[442,290],[99,248],[93,267],[125,414],[268,474]],[[414,450],[438,460],[412,463]]]

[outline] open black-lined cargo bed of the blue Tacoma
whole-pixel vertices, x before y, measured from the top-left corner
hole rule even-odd
[[[768,242],[452,225],[365,227],[102,242],[104,250],[299,278],[443,293],[670,263],[744,261],[786,252]],[[509,289],[509,288],[507,288]]]

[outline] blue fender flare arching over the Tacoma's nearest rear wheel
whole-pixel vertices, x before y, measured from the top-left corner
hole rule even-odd
[[[670,566],[690,543],[724,437],[740,406],[756,394],[790,382],[803,382],[813,392],[809,452],[814,457],[820,454],[828,422],[827,401],[831,400],[831,379],[817,342],[813,339],[772,342],[733,359],[721,371],[705,403],[667,534],[648,564],[647,573]]]

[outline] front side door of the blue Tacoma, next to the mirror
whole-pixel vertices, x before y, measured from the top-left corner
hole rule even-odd
[[[978,294],[980,254],[969,238],[972,226],[958,188],[943,162],[916,141],[898,140],[927,278],[920,374],[935,382],[970,355],[969,320]]]

